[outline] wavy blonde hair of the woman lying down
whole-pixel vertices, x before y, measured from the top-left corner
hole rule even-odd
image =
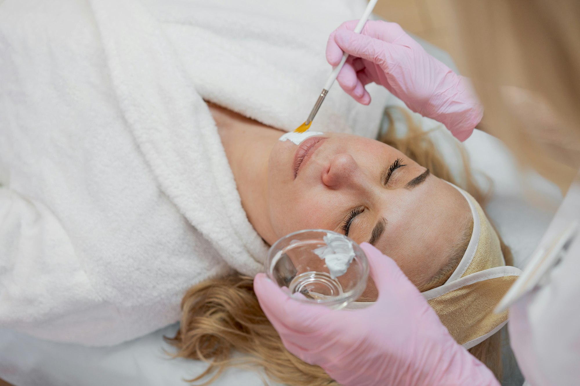
[[[387,110],[387,119],[390,119],[391,112]],[[437,152],[429,133],[420,130],[412,124],[410,117],[407,118],[410,123],[407,135],[397,137],[391,124],[390,130],[380,139],[429,168],[437,177],[462,186],[483,204],[485,196],[474,182],[465,150],[461,149],[463,168],[459,178],[456,178]],[[456,247],[461,251],[451,251],[454,255],[462,256],[465,253],[469,236],[462,237]],[[511,255],[503,242],[502,249],[506,262],[510,264]],[[451,259],[454,264],[449,266],[449,271],[455,269],[460,259]],[[441,275],[434,286],[443,284],[446,277],[447,273]],[[208,280],[191,287],[183,296],[180,329],[175,337],[166,339],[177,348],[173,356],[209,363],[205,372],[190,381],[204,381],[202,385],[208,385],[227,367],[236,366],[263,368],[267,377],[283,384],[338,385],[321,367],[302,362],[286,350],[260,308],[252,282],[251,277],[241,275]],[[242,356],[233,358],[231,354],[234,349],[240,351]],[[469,351],[490,367],[496,377],[501,377],[499,333]]]

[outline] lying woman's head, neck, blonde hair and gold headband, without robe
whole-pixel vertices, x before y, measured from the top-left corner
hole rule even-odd
[[[458,269],[466,275],[512,262],[474,198],[483,196],[471,175],[466,177],[472,194],[447,183],[456,181],[419,128],[411,125],[404,138],[390,131],[382,141],[324,133],[295,145],[279,141],[276,129],[216,105],[209,109],[248,219],[268,244],[299,229],[338,231],[375,245],[424,293],[440,288]],[[498,376],[496,328],[506,315],[491,311],[512,282],[504,279],[465,285],[430,301],[456,340]],[[377,296],[371,280],[356,306]],[[260,310],[252,277],[201,282],[187,291],[182,309],[180,330],[169,341],[177,356],[215,361],[206,373],[255,363],[282,383],[330,381],[285,350]],[[248,357],[229,359],[233,348]]]

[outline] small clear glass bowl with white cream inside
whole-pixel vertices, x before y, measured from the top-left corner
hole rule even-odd
[[[273,282],[304,303],[339,309],[367,288],[367,256],[356,242],[331,230],[306,229],[282,237],[270,248],[264,266]]]

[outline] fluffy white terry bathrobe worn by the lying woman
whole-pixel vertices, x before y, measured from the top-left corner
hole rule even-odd
[[[0,3],[0,325],[90,345],[179,319],[189,286],[262,270],[204,102],[292,130],[354,0]],[[338,85],[313,129],[374,137],[386,91]]]

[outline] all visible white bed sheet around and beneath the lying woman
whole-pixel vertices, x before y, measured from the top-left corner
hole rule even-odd
[[[429,53],[455,68],[447,53],[420,42]],[[476,131],[465,144],[473,168],[484,171],[494,183],[488,214],[512,247],[516,266],[523,267],[556,211],[559,190],[534,173],[519,173],[505,146],[490,135]],[[542,201],[543,209],[532,206],[531,200]],[[173,336],[176,330],[175,324],[114,347],[94,348],[0,329],[0,378],[16,386],[186,386],[184,380],[200,374],[206,365],[168,359],[164,350],[172,348],[162,337]],[[506,373],[504,385],[521,385],[517,367],[506,369]],[[230,369],[213,385],[262,384],[258,373]]]

